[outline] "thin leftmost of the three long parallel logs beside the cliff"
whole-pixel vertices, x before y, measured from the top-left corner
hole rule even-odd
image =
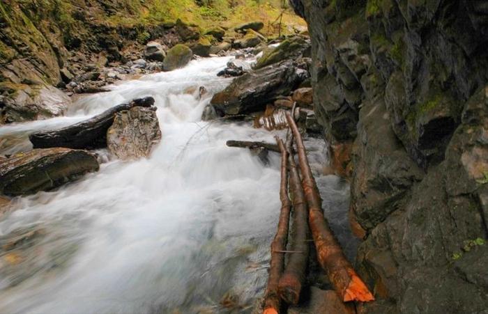
[[[283,142],[276,138],[278,147],[281,151],[281,183],[280,200],[282,203],[280,210],[280,220],[278,229],[271,242],[271,261],[268,277],[268,288],[264,298],[264,314],[280,313],[280,297],[278,295],[278,283],[284,268],[284,251],[287,249],[288,226],[290,217],[291,202],[288,197],[288,152],[283,146]]]

